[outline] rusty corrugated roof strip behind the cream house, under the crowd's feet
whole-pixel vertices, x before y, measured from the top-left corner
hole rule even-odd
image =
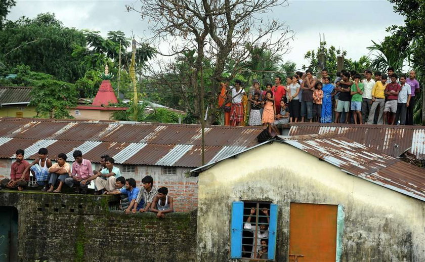
[[[289,130],[289,136],[327,133],[347,137],[390,156],[409,151],[417,159],[425,159],[424,126],[296,123]]]

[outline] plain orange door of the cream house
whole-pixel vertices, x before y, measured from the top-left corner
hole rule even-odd
[[[291,203],[289,261],[335,261],[337,205]]]

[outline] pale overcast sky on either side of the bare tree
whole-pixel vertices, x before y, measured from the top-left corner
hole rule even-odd
[[[131,32],[139,37],[150,34],[147,21],[142,21],[138,13],[129,13],[125,9],[126,4],[137,7],[137,0],[16,2],[8,16],[10,20],[51,12],[67,27],[99,30],[102,35],[112,30],[121,30],[128,36]],[[325,34],[328,46],[347,50],[347,57],[357,60],[368,54],[366,47],[372,45],[372,39],[384,39],[386,27],[404,23],[403,17],[395,14],[392,4],[386,0],[292,0],[288,4],[288,7],[274,9],[270,17],[285,21],[295,32],[294,40],[290,42],[292,49],[284,56],[284,61],[295,62],[297,68],[307,64],[303,59],[306,51],[317,49],[319,33]]]

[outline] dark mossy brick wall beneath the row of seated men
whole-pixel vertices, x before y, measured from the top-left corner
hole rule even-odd
[[[125,215],[114,196],[0,191],[18,209],[18,261],[194,261],[196,211]]]

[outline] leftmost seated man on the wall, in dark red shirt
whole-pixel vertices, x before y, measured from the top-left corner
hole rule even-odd
[[[2,188],[24,190],[28,186],[29,170],[24,173],[29,163],[24,160],[24,150],[18,149],[16,151],[16,161],[12,163],[10,168],[10,179],[0,181]]]

